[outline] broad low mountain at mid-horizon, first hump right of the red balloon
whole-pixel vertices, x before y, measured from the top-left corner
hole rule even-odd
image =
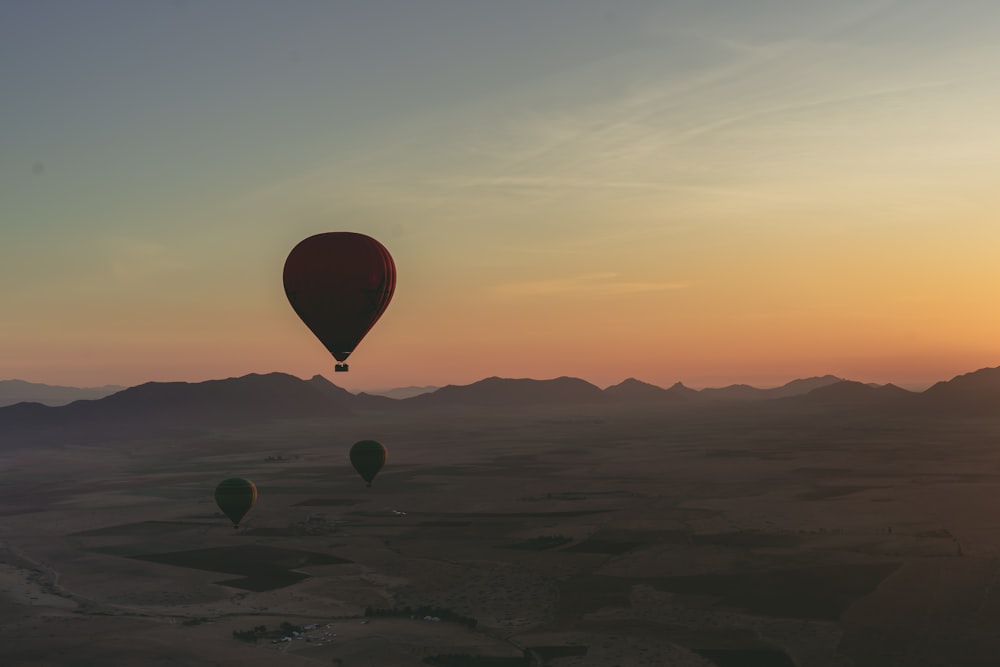
[[[408,407],[442,405],[513,406],[600,403],[604,392],[585,380],[560,377],[553,380],[491,377],[468,385],[448,385],[429,394],[402,399]]]

